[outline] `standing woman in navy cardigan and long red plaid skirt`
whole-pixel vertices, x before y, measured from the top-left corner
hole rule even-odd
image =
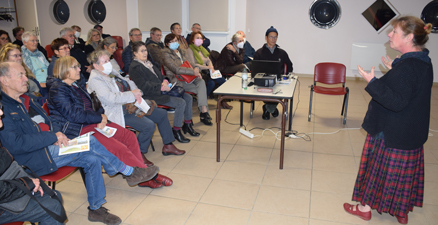
[[[423,206],[424,149],[429,132],[433,69],[424,45],[432,24],[413,16],[391,21],[390,47],[402,53],[394,61],[382,57],[390,70],[381,78],[358,66],[372,99],[362,127],[368,135],[362,152],[353,201],[347,213],[371,219],[371,209],[408,223],[414,206]]]

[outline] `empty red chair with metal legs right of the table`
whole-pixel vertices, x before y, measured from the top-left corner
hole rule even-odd
[[[316,64],[313,85],[310,86],[309,122],[312,113],[313,92],[324,95],[344,95],[341,115],[344,115],[343,124],[347,122],[349,89],[345,87],[346,70],[345,65],[340,63],[324,62]],[[317,82],[334,85],[335,87],[317,86]],[[342,87],[339,87],[339,84],[342,84]]]

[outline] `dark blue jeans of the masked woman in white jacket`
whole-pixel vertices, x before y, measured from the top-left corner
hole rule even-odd
[[[140,132],[137,140],[141,153],[148,152],[149,143],[155,131],[155,124],[158,126],[163,144],[175,141],[167,111],[164,109],[155,108],[150,116],[141,118],[135,116],[135,114],[125,114],[125,124]]]

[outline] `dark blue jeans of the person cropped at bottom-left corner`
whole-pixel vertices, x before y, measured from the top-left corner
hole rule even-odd
[[[55,190],[54,190],[55,191]],[[59,199],[62,201],[61,194],[58,191],[55,191],[58,195]],[[41,197],[40,192],[35,193],[35,198],[46,208],[51,210],[52,212],[55,212],[56,214],[61,213],[61,203],[59,203],[57,200],[50,198],[48,194],[44,194],[43,197]],[[0,212],[3,210],[0,210]],[[23,212],[14,214],[10,213],[8,211],[5,211],[3,214],[0,215],[0,224],[3,223],[11,223],[11,222],[17,222],[17,221],[30,221],[31,223],[39,222],[40,225],[58,225],[58,224],[64,224],[56,221],[53,219],[49,214],[44,211],[43,208],[34,200],[30,200],[29,204],[27,204],[27,207],[24,209]]]

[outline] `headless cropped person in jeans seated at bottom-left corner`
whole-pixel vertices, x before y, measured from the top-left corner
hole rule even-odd
[[[3,122],[1,119],[3,116],[3,111],[0,107],[0,128],[3,127]],[[14,161],[13,157],[5,148],[0,148],[0,176],[2,176],[6,170],[10,167],[12,162]],[[16,182],[21,183],[32,190],[35,193],[35,198],[39,203],[44,205],[48,210],[59,215],[62,210],[62,205],[58,200],[53,199],[49,196],[49,194],[44,193],[40,186],[40,180],[37,178],[15,178],[13,179]],[[55,191],[55,194],[62,201],[61,193]],[[13,201],[19,200],[26,195],[24,191],[22,191],[17,185],[12,184],[10,182],[0,180],[0,203],[10,203]],[[26,204],[26,207],[21,212],[12,212],[7,209],[0,209],[0,221],[2,224],[12,223],[16,221],[29,221],[31,223],[38,222],[38,224],[54,224],[61,225],[64,223],[60,223],[51,217],[47,212],[38,204],[38,202],[30,199]]]

